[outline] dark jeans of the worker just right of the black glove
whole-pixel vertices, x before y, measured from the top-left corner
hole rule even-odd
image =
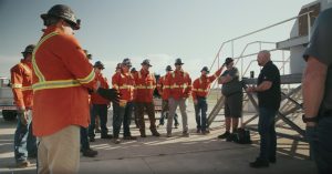
[[[131,136],[131,119],[133,113],[133,102],[127,102],[125,106],[113,104],[113,135],[118,137],[121,125],[123,124],[123,136]]]

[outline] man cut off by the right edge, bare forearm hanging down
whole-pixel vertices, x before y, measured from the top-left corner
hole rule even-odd
[[[304,52],[303,121],[320,174],[332,173],[332,8],[315,20]]]

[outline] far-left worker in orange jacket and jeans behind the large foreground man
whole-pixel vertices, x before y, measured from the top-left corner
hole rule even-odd
[[[11,68],[11,83],[14,102],[18,106],[18,126],[14,134],[14,158],[19,167],[29,166],[29,157],[37,156],[35,136],[32,135],[32,65],[33,44],[22,52],[23,59]]]

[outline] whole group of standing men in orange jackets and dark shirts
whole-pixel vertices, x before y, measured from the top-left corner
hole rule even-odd
[[[81,21],[75,18],[70,7],[56,4],[48,13],[41,14],[41,18],[45,25],[41,40],[37,45],[28,45],[22,52],[24,59],[11,69],[12,90],[19,111],[14,154],[20,166],[29,165],[28,156],[38,155],[38,173],[76,173],[80,164],[80,139],[81,150],[90,150],[90,156],[96,155],[87,141],[94,141],[96,115],[101,120],[101,137],[113,139],[115,144],[121,143],[121,126],[124,130],[124,140],[136,140],[129,130],[133,108],[141,137],[146,137],[145,112],[149,119],[152,135],[160,136],[153,103],[155,88],[163,99],[163,112],[169,110],[167,137],[172,136],[177,106],[181,114],[183,135],[189,136],[186,100],[190,95],[195,104],[197,133],[209,133],[206,96],[216,79],[224,84],[222,93],[226,96],[226,132],[218,137],[230,137],[230,126],[232,132],[237,130],[238,119],[242,114],[242,89],[241,85],[237,86],[239,75],[231,58],[210,76],[208,68],[204,66],[201,75],[193,85],[190,75],[183,70],[181,59],[175,60],[174,71],[167,65],[167,73],[158,82],[149,72],[152,64],[148,59],[144,60],[141,63],[142,69],[134,73],[129,71],[131,60],[124,59],[112,76],[112,90],[103,91],[110,88],[101,72],[104,65],[100,61],[92,65],[86,59],[87,53],[73,35],[74,30],[80,29]],[[311,55],[311,52],[308,54]],[[250,163],[252,167],[276,163],[274,116],[281,100],[280,74],[270,60],[270,53],[261,51],[258,54],[258,63],[263,66],[258,85],[247,89],[247,92],[259,94],[261,146],[259,157]],[[225,65],[227,70],[221,74]],[[108,134],[106,126],[107,108],[111,102],[113,135]],[[32,130],[33,135],[38,137],[38,146]],[[321,158],[320,162],[323,163]],[[323,164],[323,167],[328,167]]]

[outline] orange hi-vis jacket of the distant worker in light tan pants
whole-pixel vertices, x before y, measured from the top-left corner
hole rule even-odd
[[[178,100],[180,98],[188,98],[191,92],[191,79],[187,72],[183,70],[175,70],[166,75],[164,92],[165,98],[174,98]]]

